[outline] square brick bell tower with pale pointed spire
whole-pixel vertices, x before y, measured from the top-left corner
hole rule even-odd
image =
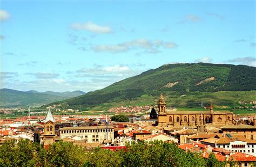
[[[52,117],[50,108],[44,120],[44,137],[43,144],[47,146],[49,144],[53,144],[55,142],[55,120]]]

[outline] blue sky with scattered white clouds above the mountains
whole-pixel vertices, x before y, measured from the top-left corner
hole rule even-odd
[[[102,89],[167,63],[256,66],[255,1],[0,1],[0,87]]]

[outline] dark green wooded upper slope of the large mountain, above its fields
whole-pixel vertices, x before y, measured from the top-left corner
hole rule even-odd
[[[161,92],[183,95],[198,91],[248,91],[256,90],[255,81],[255,67],[210,63],[166,64],[62,103],[69,107],[95,106],[132,100],[145,94],[159,96]]]

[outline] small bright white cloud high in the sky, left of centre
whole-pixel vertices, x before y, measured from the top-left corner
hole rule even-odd
[[[75,23],[72,24],[71,27],[73,30],[86,30],[96,34],[104,34],[104,33],[111,33],[111,27],[109,26],[100,26],[92,21],[88,21],[87,23]]]

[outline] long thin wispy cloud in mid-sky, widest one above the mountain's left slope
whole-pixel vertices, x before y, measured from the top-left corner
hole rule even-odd
[[[116,45],[95,45],[92,46],[92,50],[94,50],[95,52],[120,53],[126,52],[131,49],[144,49],[144,53],[159,53],[160,51],[157,48],[159,48],[160,46],[164,48],[176,48],[177,43],[163,42],[161,40],[154,40],[153,42],[151,42],[148,39],[137,39],[118,43]]]

